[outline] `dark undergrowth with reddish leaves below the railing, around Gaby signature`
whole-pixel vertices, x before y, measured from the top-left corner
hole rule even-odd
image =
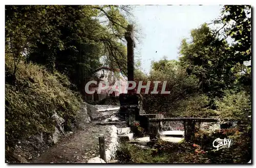
[[[231,139],[229,148],[212,147],[216,138]],[[251,134],[237,129],[200,131],[191,142],[159,140],[152,148],[123,144],[117,151],[119,163],[247,163],[251,160]]]

